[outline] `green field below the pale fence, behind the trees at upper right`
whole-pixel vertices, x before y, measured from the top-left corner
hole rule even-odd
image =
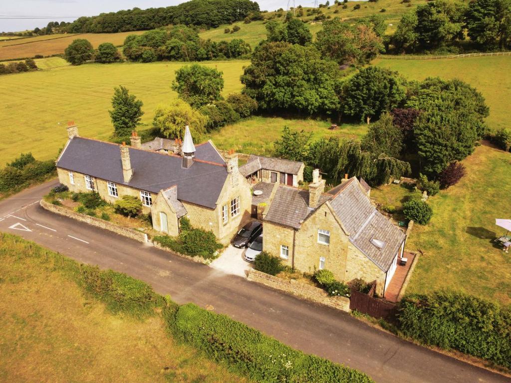
[[[379,3],[378,3],[379,4]],[[409,80],[458,78],[479,90],[490,107],[486,122],[493,130],[508,127],[511,109],[511,57],[466,57],[442,60],[376,59],[375,65],[397,70]]]

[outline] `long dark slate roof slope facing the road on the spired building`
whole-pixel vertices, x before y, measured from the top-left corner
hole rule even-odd
[[[224,165],[195,161],[184,169],[178,156],[131,147],[129,154],[134,170],[129,183],[123,180],[119,146],[108,142],[74,137],[61,154],[57,167],[152,193],[176,185],[178,200],[211,209],[216,207],[227,178]]]

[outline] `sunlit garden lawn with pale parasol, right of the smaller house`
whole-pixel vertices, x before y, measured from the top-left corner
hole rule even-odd
[[[407,293],[452,288],[509,304],[511,253],[492,241],[503,234],[495,219],[509,218],[511,154],[485,143],[463,163],[467,175],[428,200],[431,222],[413,227],[407,249],[423,254]]]

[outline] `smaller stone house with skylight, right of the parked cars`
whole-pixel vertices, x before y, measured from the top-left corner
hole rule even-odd
[[[342,282],[376,280],[384,296],[406,236],[371,204],[365,182],[343,181],[323,193],[315,170],[308,191],[278,185],[267,194],[263,249],[300,271],[328,269]]]

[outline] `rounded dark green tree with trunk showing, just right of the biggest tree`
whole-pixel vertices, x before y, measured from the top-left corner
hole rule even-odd
[[[405,96],[405,80],[397,72],[368,66],[344,85],[342,110],[369,124],[371,118],[398,107]]]

